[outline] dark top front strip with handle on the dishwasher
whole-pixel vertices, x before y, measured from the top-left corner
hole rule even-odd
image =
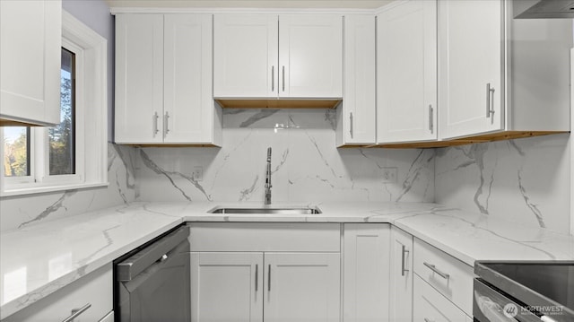
[[[152,245],[143,248],[134,256],[127,258],[116,267],[116,280],[119,282],[128,282],[138,274],[152,266],[155,262],[167,259],[166,254],[170,253],[173,248],[187,239],[189,236],[189,227],[181,226],[176,231],[172,231],[167,236],[162,237]]]

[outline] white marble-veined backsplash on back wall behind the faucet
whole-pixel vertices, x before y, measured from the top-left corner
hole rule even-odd
[[[274,203],[434,200],[434,151],[336,149],[329,109],[225,109],[222,148],[138,149],[139,200],[263,203],[267,147]]]

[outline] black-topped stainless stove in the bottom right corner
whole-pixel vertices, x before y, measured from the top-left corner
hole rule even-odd
[[[474,321],[574,322],[574,262],[479,261]]]

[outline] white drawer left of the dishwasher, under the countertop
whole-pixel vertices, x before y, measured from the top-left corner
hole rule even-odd
[[[3,322],[59,322],[72,315],[72,309],[81,309],[87,304],[91,304],[91,307],[75,318],[74,322],[100,321],[109,317],[113,309],[112,301],[112,265],[109,264],[14,313]]]

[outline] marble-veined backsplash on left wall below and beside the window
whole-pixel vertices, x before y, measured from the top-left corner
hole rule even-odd
[[[0,231],[25,229],[28,225],[128,204],[137,197],[135,149],[108,145],[108,187],[3,197],[0,200]]]

